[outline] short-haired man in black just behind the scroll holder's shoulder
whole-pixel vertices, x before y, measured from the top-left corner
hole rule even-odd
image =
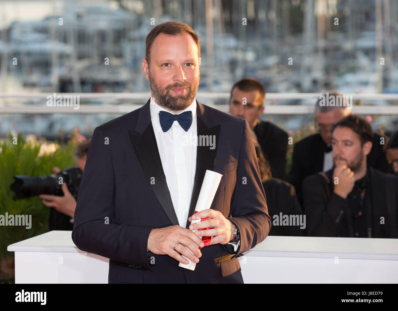
[[[265,89],[260,82],[253,78],[240,80],[232,86],[229,111],[233,116],[248,121],[249,126],[256,133],[265,159],[271,166],[272,176],[285,179],[287,133],[268,121],[259,118],[264,111]]]

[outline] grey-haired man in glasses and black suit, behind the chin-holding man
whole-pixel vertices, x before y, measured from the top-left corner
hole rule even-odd
[[[340,102],[340,99],[342,99],[341,105],[322,104],[325,98],[328,98],[330,102],[333,100],[334,103]],[[329,92],[320,96],[315,104],[315,119],[319,133],[295,143],[290,182],[295,186],[300,204],[303,202],[302,181],[304,178],[317,172],[326,172],[333,167],[332,126],[351,113],[349,107],[345,103],[345,98],[337,92]],[[369,166],[386,173],[388,163],[383,150],[384,145],[380,144],[380,138],[381,136],[377,133],[373,135],[373,147],[367,156],[367,163]]]

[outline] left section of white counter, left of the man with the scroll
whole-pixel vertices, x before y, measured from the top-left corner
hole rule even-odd
[[[80,251],[72,231],[50,231],[8,245],[15,283],[108,283],[109,259]]]

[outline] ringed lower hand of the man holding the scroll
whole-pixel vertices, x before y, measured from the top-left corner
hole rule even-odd
[[[179,225],[152,229],[148,237],[148,251],[157,255],[169,255],[183,264],[188,264],[189,262],[180,254],[192,262],[199,262],[199,257],[202,254],[197,245],[200,245],[200,247],[205,246],[195,233]],[[176,249],[174,249],[174,246],[176,246]]]

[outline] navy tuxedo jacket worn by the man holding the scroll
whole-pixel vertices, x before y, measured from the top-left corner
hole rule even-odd
[[[191,271],[168,255],[147,252],[152,229],[178,225],[149,105],[95,128],[78,192],[74,243],[110,259],[109,283],[243,283],[236,256],[263,241],[271,228],[248,122],[197,101],[197,135],[214,135],[216,146],[196,147],[189,216],[206,170],[216,171],[223,176],[211,208],[239,228],[241,240],[235,253],[228,244],[204,247]]]

